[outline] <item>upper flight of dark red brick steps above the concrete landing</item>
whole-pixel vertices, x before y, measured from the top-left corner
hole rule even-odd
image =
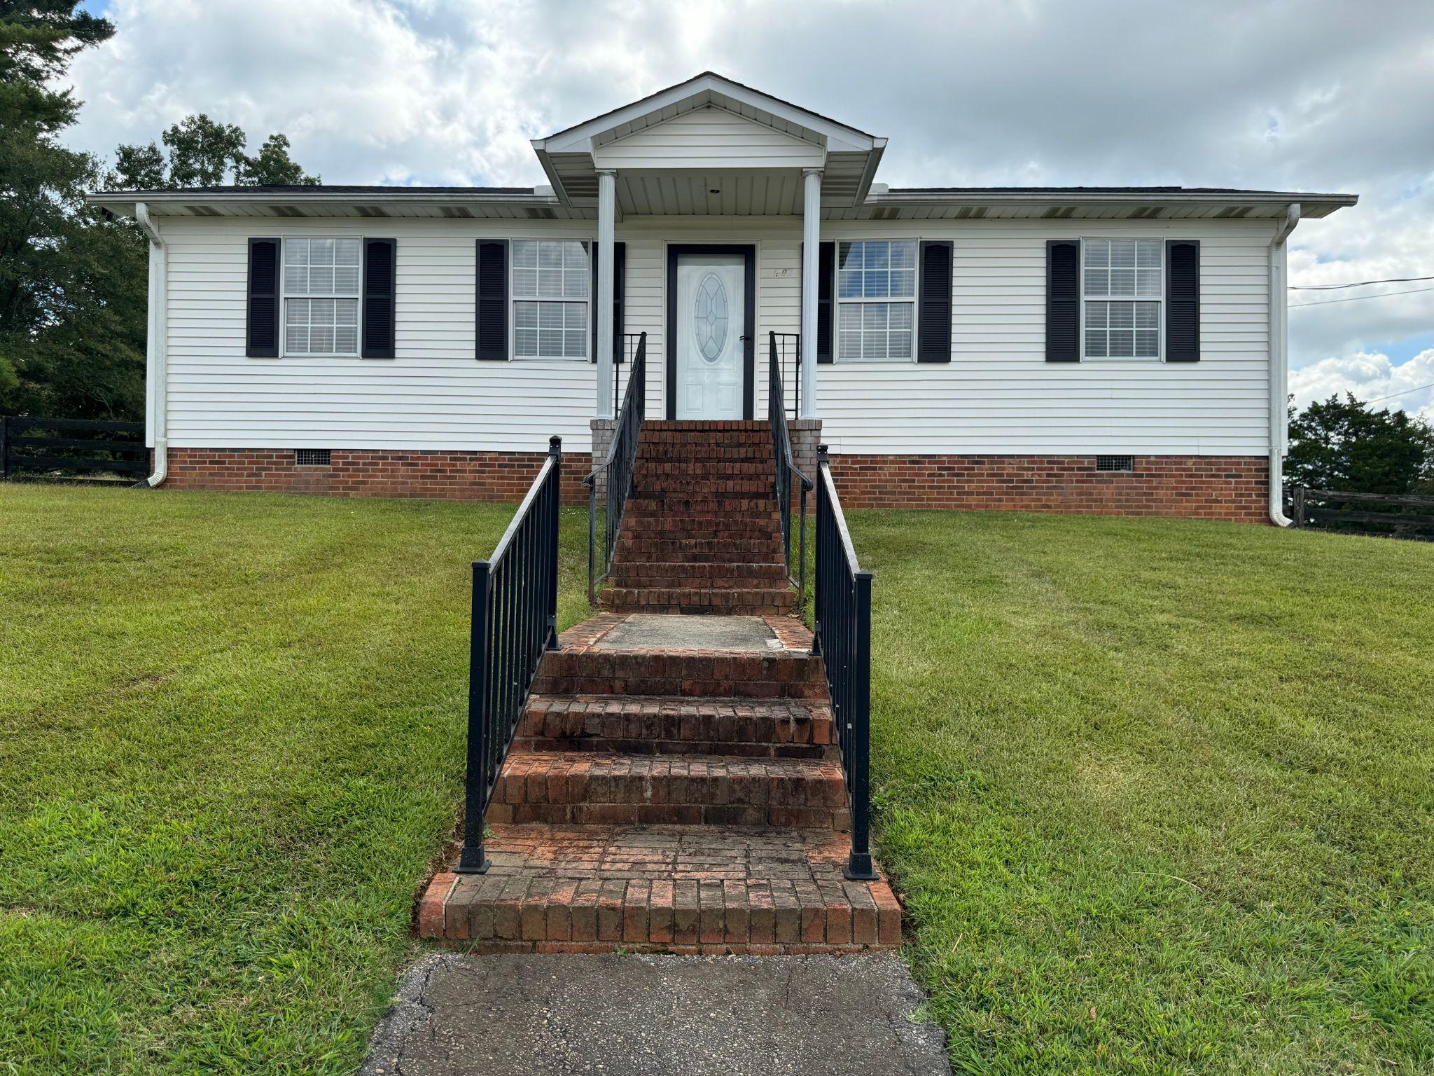
[[[794,598],[766,422],[645,422],[602,607],[780,615]]]

